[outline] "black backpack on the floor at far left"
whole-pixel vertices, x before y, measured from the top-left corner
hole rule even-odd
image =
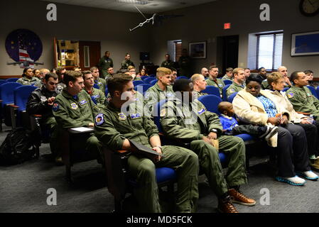
[[[0,146],[0,164],[16,165],[31,160],[36,148],[26,128],[14,128]]]

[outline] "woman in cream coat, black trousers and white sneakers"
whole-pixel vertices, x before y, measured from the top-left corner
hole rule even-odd
[[[278,126],[278,141],[273,141],[278,157],[279,172],[276,180],[301,186],[307,179],[318,179],[310,170],[306,133],[301,126],[288,123],[290,114],[274,101],[269,92],[261,91],[262,78],[250,75],[246,89],[237,93],[234,101],[235,114],[244,122],[255,125],[271,123]],[[276,137],[274,137],[276,139]],[[296,173],[301,176],[298,177]]]

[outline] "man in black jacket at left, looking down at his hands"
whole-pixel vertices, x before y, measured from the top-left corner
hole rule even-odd
[[[28,98],[26,111],[28,114],[39,114],[42,116],[40,123],[50,128],[50,148],[55,155],[56,162],[62,162],[57,149],[57,123],[52,114],[52,105],[55,96],[58,95],[57,90],[58,75],[50,72],[45,74],[42,87],[34,90]]]

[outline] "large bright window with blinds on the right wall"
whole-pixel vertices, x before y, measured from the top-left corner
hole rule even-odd
[[[283,32],[249,34],[248,67],[277,70],[281,66]]]

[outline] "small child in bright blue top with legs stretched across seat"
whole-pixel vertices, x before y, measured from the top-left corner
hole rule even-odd
[[[223,132],[225,135],[238,135],[247,133],[250,135],[259,136],[268,141],[278,131],[278,127],[270,126],[254,126],[249,125],[238,125],[236,118],[234,117],[234,109],[232,104],[228,101],[222,101],[218,105],[218,111],[220,111],[220,123],[222,123]]]

